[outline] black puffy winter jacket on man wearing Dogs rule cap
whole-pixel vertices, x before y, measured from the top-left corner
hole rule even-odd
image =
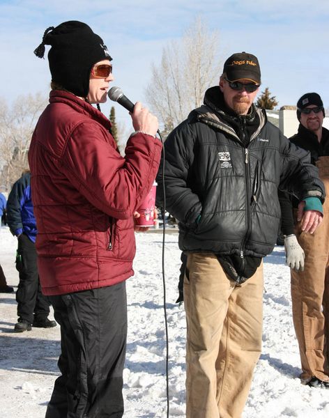
[[[247,119],[239,122],[232,116],[229,123],[220,88],[210,88],[204,102],[164,145],[166,208],[178,219],[179,246],[183,251],[266,256],[280,223],[277,188],[300,199],[323,199],[317,169],[309,164],[309,153],[266,120],[265,111],[257,110],[258,127],[245,145],[241,132],[247,130]],[[240,131],[232,127],[237,123]],[[157,180],[158,204],[163,205],[161,172],[162,167]]]

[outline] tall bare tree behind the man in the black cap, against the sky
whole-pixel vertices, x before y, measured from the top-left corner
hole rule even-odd
[[[199,107],[206,89],[220,78],[219,36],[197,17],[177,42],[162,51],[159,65],[152,65],[146,100],[160,125],[172,129]],[[169,132],[166,132],[169,133]]]

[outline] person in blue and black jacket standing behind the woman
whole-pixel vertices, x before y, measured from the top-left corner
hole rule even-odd
[[[56,327],[49,320],[49,300],[41,292],[36,256],[36,218],[31,200],[31,173],[25,171],[13,185],[7,202],[10,232],[17,237],[16,269],[20,281],[16,292],[17,316],[15,332]]]

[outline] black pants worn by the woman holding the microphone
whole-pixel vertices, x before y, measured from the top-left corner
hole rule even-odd
[[[46,418],[121,418],[127,339],[125,282],[50,296],[61,355]]]

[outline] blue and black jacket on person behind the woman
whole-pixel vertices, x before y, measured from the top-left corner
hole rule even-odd
[[[24,233],[36,242],[36,218],[31,198],[31,174],[26,173],[14,183],[7,201],[7,224],[13,235]]]

